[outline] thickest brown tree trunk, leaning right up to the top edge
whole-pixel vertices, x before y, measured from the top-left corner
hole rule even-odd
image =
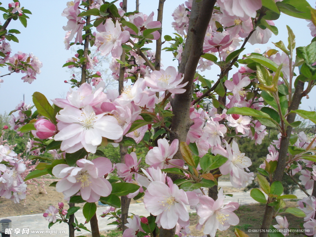
[[[189,128],[192,125],[189,113],[193,79],[198,61],[203,53],[204,37],[215,3],[216,0],[194,0],[192,3],[189,32],[182,54],[182,61],[179,66],[179,73],[184,73],[183,83],[188,82],[188,84],[184,87],[186,92],[183,94],[176,94],[172,101],[172,111],[174,116],[172,117],[171,130],[173,131],[173,134],[170,134],[171,140],[179,139],[179,141],[185,141]],[[182,159],[179,150],[173,158]],[[161,228],[160,237],[173,237],[174,232],[175,228],[171,230]]]

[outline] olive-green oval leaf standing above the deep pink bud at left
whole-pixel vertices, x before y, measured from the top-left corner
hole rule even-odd
[[[33,96],[33,103],[37,109],[37,112],[40,115],[48,118],[49,120],[56,123],[56,118],[54,116],[54,109],[46,99],[45,95],[41,94],[40,92],[34,92]]]

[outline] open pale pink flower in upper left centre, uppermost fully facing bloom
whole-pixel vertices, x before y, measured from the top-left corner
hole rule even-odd
[[[106,32],[97,33],[95,36],[98,50],[105,56],[112,53],[113,57],[120,57],[123,52],[122,43],[130,39],[130,33],[127,30],[122,31],[119,21],[114,25],[111,19],[106,19],[104,27]]]

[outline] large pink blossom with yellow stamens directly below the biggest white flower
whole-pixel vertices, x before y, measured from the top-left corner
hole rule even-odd
[[[52,173],[62,180],[56,184],[56,191],[62,192],[65,198],[75,195],[78,191],[83,200],[97,202],[100,196],[107,197],[112,191],[109,181],[104,175],[112,169],[111,161],[105,157],[98,157],[92,161],[80,159],[78,167],[66,164],[56,165]]]

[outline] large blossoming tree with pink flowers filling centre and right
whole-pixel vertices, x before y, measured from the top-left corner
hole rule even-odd
[[[177,32],[173,38],[163,36],[161,29],[164,0],[157,1],[157,21],[153,13],[128,12],[127,0],[119,8],[115,2],[67,3],[62,13],[68,19],[63,27],[66,48],[78,44],[83,49],[64,66],[82,69],[81,81],[71,81],[72,88],[79,88],[70,89],[65,99],[52,100],[53,105],[35,92],[36,112],[17,109],[25,116],[12,120],[12,128],[19,132],[32,131],[33,150],[47,160],[26,179],[47,173],[60,178],[51,185],[70,203],[68,210],[61,204],[59,210],[52,206],[46,210],[49,227],[57,220],[67,222],[74,236],[75,228],[86,228],[74,218],[79,209],[75,203],[85,203],[86,221],[93,236],[100,236],[95,214],[95,202],[100,200],[111,206],[103,216],[116,218],[113,223],[125,237],[182,236],[188,234],[189,205],[200,218],[196,228],[214,237],[217,230],[239,222],[233,212],[239,204],[224,204],[218,177],[229,174],[234,187],[254,180],[248,169],[251,160],[240,151],[236,138],[250,137],[260,144],[268,126],[280,132],[257,168],[258,183],[268,198],[257,188],[251,191],[256,201],[266,204],[262,228],[286,230],[284,213],[305,217],[304,227],[314,228],[316,137],[308,139],[292,130],[300,125],[297,115],[316,123],[316,112],[299,109],[302,97],[315,85],[316,43],[297,47],[295,56],[295,35],[287,27],[288,43],[276,42],[276,49],[251,53],[246,46],[264,44],[277,34],[273,21],[281,13],[311,21],[308,26],[315,36],[316,10],[305,0],[191,0],[173,12]],[[161,69],[162,38],[171,42],[163,50],[173,53],[178,69]],[[147,47],[153,41],[155,53]],[[86,83],[87,69],[94,64],[89,45],[112,56],[110,68],[119,81],[118,91],[104,91],[101,80],[94,80],[94,89]],[[220,68],[215,81],[198,73],[210,66]],[[238,71],[230,78],[233,67]],[[124,82],[133,85],[124,87]],[[206,100],[212,101],[210,109]],[[114,166],[100,150],[112,145],[119,145],[121,154],[121,163]],[[147,169],[139,167],[137,146],[148,148]],[[44,151],[51,151],[55,159],[42,156]],[[91,160],[89,154],[98,158]],[[301,184],[293,177],[298,172]],[[293,178],[308,196],[298,208],[284,209],[283,200],[296,196],[282,195],[283,175]],[[312,196],[305,190],[311,188]],[[150,216],[129,218],[130,198],[141,197]],[[273,218],[278,222],[275,227]],[[243,233],[236,229],[236,235]]]

